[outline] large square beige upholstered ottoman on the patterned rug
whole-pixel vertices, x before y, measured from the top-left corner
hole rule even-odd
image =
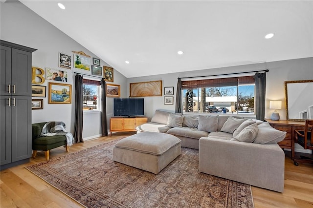
[[[179,138],[159,132],[141,132],[118,141],[113,160],[157,174],[180,155]]]

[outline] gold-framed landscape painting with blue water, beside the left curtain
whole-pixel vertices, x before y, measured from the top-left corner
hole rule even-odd
[[[71,104],[72,85],[64,83],[49,83],[48,104]]]

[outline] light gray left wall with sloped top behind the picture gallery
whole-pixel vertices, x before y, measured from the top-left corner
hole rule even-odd
[[[61,69],[58,67],[59,52],[72,55],[72,51],[83,51],[89,56],[96,57],[85,47],[75,42],[65,33],[55,28],[36,13],[28,9],[19,1],[6,1],[0,3],[0,39],[8,42],[36,48],[37,51],[32,56],[32,66],[46,67],[67,71],[67,84],[72,85],[72,104],[48,104],[48,96],[44,98],[43,110],[32,110],[32,123],[45,121],[63,121],[67,125],[67,130],[73,133],[75,118],[75,74],[74,72],[91,74],[90,71],[80,69]],[[70,21],[69,21],[70,22]],[[91,32],[91,31],[90,31]],[[86,37],[88,38],[88,37]],[[73,62],[73,60],[72,60]],[[110,66],[101,60],[101,66]],[[88,79],[90,77],[84,76]],[[47,86],[48,82],[40,84]],[[114,84],[121,85],[121,95],[127,96],[126,78],[114,69]],[[40,98],[39,98],[40,99]],[[112,116],[112,98],[107,98],[108,121]],[[101,114],[100,112],[84,113],[83,138],[92,138],[101,134]]]

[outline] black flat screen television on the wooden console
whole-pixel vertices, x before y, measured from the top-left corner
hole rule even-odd
[[[144,99],[143,98],[114,98],[113,99],[114,116],[143,116]]]

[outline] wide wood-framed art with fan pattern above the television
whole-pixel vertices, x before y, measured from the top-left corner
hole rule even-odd
[[[162,80],[130,83],[130,97],[162,96]]]

